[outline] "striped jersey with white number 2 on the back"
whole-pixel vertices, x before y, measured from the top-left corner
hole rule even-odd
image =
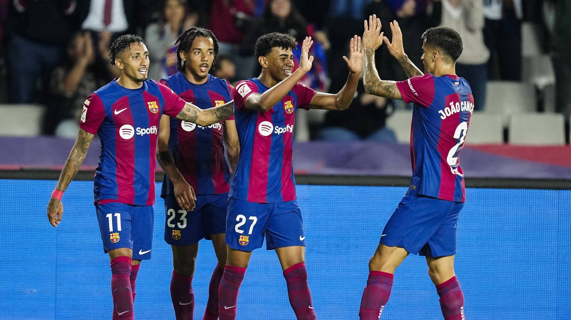
[[[457,75],[425,74],[396,83],[414,103],[411,125],[412,181],[407,194],[464,202],[460,150],[472,112],[472,89]]]

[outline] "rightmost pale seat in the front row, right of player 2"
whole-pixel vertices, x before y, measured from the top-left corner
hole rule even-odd
[[[565,145],[562,114],[514,114],[509,121],[509,143],[514,145]]]

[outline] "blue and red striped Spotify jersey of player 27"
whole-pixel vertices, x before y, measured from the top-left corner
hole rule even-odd
[[[272,109],[246,109],[246,98],[269,88],[257,78],[236,83],[234,117],[240,157],[230,185],[230,197],[259,203],[296,198],[293,179],[293,122],[297,108],[309,109],[315,90],[297,83]]]

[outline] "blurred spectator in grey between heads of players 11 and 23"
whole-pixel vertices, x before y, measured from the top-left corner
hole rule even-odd
[[[192,12],[182,0],[163,0],[159,21],[147,27],[150,66],[148,78],[159,81],[176,71],[175,41],[186,29],[194,27],[198,14]]]

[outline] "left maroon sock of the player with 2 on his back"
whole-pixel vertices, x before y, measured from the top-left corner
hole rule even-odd
[[[394,275],[383,271],[371,271],[367,279],[367,286],[363,290],[361,307],[359,309],[360,320],[377,320],[381,317],[383,309],[389,297]]]

